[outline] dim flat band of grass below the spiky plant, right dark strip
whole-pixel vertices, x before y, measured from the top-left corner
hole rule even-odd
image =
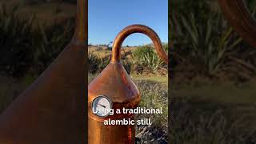
[[[232,82],[198,84],[176,86],[172,85],[171,89],[174,95],[202,97],[214,102],[224,102],[233,104],[256,104],[256,83],[246,82],[235,85]]]

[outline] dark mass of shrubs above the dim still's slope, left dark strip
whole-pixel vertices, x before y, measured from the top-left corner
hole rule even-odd
[[[0,71],[9,77],[41,74],[70,42],[74,19],[38,26],[22,18],[18,7],[0,9]]]

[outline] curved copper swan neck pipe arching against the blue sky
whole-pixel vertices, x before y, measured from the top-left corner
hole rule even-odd
[[[143,25],[131,25],[124,28],[118,36],[115,38],[112,49],[112,58],[111,62],[120,62],[121,60],[121,46],[122,42],[130,35],[134,33],[146,34],[154,43],[154,48],[157,51],[157,54],[162,58],[164,62],[168,64],[168,56],[162,48],[162,42],[158,37],[158,34],[154,30],[150,29],[148,26]]]

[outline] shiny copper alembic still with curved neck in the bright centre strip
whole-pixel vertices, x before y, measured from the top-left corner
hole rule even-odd
[[[158,55],[166,63],[168,57],[162,48],[162,42],[158,34],[147,26],[132,25],[123,29],[114,40],[111,62],[88,86],[88,115],[89,115],[89,139],[90,144],[134,144],[135,127],[128,126],[106,126],[103,121],[106,119],[134,119],[132,114],[114,114],[106,118],[100,118],[92,113],[92,102],[98,95],[106,95],[113,102],[113,108],[123,107],[132,109],[138,106],[141,96],[137,86],[131,80],[120,62],[122,42],[130,34],[142,33],[151,38]]]

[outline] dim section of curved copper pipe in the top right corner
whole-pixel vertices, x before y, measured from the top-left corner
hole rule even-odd
[[[256,20],[244,0],[218,0],[218,3],[234,30],[256,48]]]

